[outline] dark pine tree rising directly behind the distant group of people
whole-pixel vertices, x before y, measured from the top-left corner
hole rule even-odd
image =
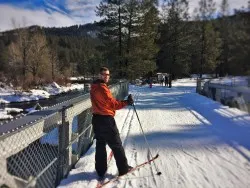
[[[187,75],[189,72],[190,33],[188,18],[188,2],[186,0],[170,0],[163,6],[159,63],[160,67],[170,74],[169,87],[172,87],[172,79]]]

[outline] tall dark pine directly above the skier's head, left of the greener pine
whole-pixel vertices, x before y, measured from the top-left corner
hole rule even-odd
[[[103,18],[100,22],[101,32],[99,38],[106,53],[110,67],[115,67],[119,75],[124,73],[121,68],[124,65],[123,53],[123,30],[124,30],[124,1],[123,0],[102,0],[96,10],[97,16]],[[118,65],[117,65],[118,64]]]

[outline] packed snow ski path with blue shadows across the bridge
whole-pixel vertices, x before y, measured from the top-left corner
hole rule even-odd
[[[250,187],[249,114],[196,94],[195,80],[178,80],[173,88],[130,86],[130,93],[150,151],[160,155],[155,164],[162,175],[147,165],[105,187]],[[129,164],[146,161],[148,147],[133,108],[117,111],[115,119]],[[95,143],[59,187],[96,187],[94,157]],[[106,179],[116,174],[112,158]]]

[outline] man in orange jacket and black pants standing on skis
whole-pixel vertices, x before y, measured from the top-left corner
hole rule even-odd
[[[92,125],[96,136],[95,169],[100,178],[107,171],[106,144],[114,154],[119,175],[126,174],[132,168],[127,163],[114,116],[116,110],[132,105],[134,101],[131,95],[125,101],[114,99],[107,86],[109,78],[109,69],[101,67],[99,79],[93,82],[90,90]]]

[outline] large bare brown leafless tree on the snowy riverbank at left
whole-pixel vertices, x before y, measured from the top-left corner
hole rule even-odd
[[[16,25],[15,20],[12,21]],[[8,47],[11,79],[27,88],[38,81],[51,80],[51,54],[45,35],[39,29],[18,28]],[[53,65],[54,66],[54,65]],[[21,83],[20,83],[21,81]]]

